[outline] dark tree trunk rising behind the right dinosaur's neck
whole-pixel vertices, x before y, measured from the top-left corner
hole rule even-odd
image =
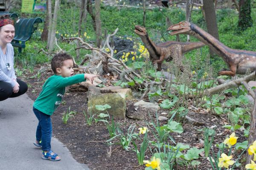
[[[215,14],[215,8],[212,0],[203,0],[205,21],[207,26],[207,32],[219,40],[218,26]],[[210,54],[213,56],[214,52],[210,49]]]

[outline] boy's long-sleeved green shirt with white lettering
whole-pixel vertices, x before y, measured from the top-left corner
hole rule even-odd
[[[71,77],[53,75],[44,83],[43,89],[33,106],[47,115],[52,115],[58,105],[61,104],[65,87],[84,81],[84,74],[76,74]]]

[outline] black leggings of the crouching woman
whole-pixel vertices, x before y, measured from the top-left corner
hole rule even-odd
[[[0,101],[3,101],[9,97],[17,97],[26,93],[26,91],[28,90],[28,85],[26,84],[26,82],[23,82],[20,79],[17,79],[17,82],[20,85],[20,89],[18,93],[13,93],[13,88],[11,84],[0,81]]]

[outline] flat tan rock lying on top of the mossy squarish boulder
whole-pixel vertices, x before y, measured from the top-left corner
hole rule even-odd
[[[100,89],[101,93],[117,93],[122,96],[126,101],[133,99],[132,91],[130,88],[121,88],[120,86],[109,86]]]

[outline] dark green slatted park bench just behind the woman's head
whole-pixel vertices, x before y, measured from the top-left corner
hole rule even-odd
[[[18,47],[19,53],[25,48],[25,42],[29,40],[33,32],[36,30],[35,23],[42,23],[43,20],[37,18],[20,18],[15,23],[15,36],[12,40],[12,46]],[[21,43],[20,43],[21,42]]]

